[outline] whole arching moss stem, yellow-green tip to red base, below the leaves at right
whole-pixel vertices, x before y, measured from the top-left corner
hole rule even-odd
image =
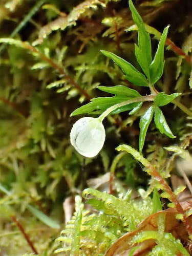
[[[123,144],[119,145],[116,148],[117,151],[126,151],[127,153],[132,154],[132,156],[137,159],[139,162],[141,162],[146,167],[146,172],[151,175],[156,181],[158,181],[162,185],[162,189],[170,195],[170,202],[175,204],[175,207],[179,214],[183,216],[183,224],[189,234],[189,238],[192,237],[192,226],[190,224],[190,221],[188,217],[185,215],[185,212],[183,208],[181,207],[181,204],[178,202],[176,195],[172,191],[172,189],[169,187],[167,182],[164,180],[164,178],[160,175],[160,173],[156,170],[156,168],[148,162],[138,151],[136,151],[134,148],[132,148],[129,145]]]

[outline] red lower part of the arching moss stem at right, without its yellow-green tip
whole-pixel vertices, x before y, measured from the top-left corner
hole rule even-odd
[[[169,200],[170,200],[170,202],[175,203],[178,213],[182,214],[182,216],[183,216],[182,222],[185,225],[185,228],[190,236],[192,234],[191,223],[190,223],[189,219],[187,218],[187,216],[185,215],[185,212],[184,212],[183,208],[181,207],[180,203],[178,202],[172,189],[169,187],[169,185],[166,183],[166,181],[163,179],[163,177],[159,174],[159,172],[157,172],[157,170],[155,169],[155,167],[152,164],[149,163],[145,167],[148,170],[150,170],[149,174],[152,177],[154,177],[163,186],[163,190],[170,195]]]

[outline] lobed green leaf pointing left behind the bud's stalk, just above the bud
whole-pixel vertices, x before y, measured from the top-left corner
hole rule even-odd
[[[117,103],[120,103],[128,99],[141,97],[141,95],[137,91],[127,88],[125,86],[113,86],[113,87],[99,86],[98,89],[104,92],[115,94],[115,96],[98,97],[98,98],[91,99],[90,103],[76,109],[71,114],[71,116],[84,114],[84,113],[101,114],[106,109],[110,108],[110,106],[112,105],[115,105]],[[121,106],[120,108],[112,111],[111,114],[114,115],[124,111],[132,110],[137,106],[138,106],[138,102]]]

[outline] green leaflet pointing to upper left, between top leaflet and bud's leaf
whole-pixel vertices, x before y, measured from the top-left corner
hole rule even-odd
[[[141,74],[136,68],[134,68],[131,63],[115,55],[114,53],[104,50],[101,50],[101,52],[106,57],[111,58],[117,65],[119,65],[119,67],[125,73],[127,80],[136,84],[136,86],[148,86],[148,82],[145,76]]]

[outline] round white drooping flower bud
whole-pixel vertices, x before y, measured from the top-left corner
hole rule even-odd
[[[70,138],[71,144],[79,154],[85,157],[95,157],[105,141],[104,126],[97,118],[80,118],[74,123]]]

